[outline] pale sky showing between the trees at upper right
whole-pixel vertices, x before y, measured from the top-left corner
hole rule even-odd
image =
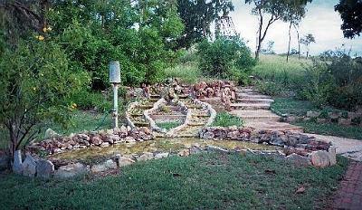
[[[230,14],[233,18],[233,24],[237,33],[240,33],[247,45],[254,50],[256,43],[256,32],[258,28],[258,18],[251,14],[252,5],[245,5],[244,0],[233,0],[235,7]],[[347,50],[351,49],[351,55],[362,55],[362,35],[355,39],[346,39],[343,37],[340,25],[342,20],[338,12],[334,11],[334,5],[338,0],[313,0],[307,5],[307,13],[300,23],[300,36],[312,33],[316,43],[310,44],[310,54],[317,55],[327,50],[335,50],[345,44]],[[271,24],[270,29],[263,41],[264,45],[268,41],[274,41],[273,50],[277,53],[287,52],[288,50],[288,30],[289,24],[277,21]],[[291,49],[298,49],[297,33],[291,32]],[[306,49],[302,45],[301,52]]]

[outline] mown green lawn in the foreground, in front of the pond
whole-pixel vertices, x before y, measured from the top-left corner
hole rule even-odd
[[[323,169],[199,154],[138,162],[119,175],[42,181],[0,175],[3,209],[324,209],[346,158]],[[305,192],[296,190],[305,187]]]

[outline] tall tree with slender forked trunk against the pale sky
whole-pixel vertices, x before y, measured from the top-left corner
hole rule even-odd
[[[295,7],[295,1],[286,1],[286,0],[245,0],[245,3],[252,4],[254,7],[252,8],[252,14],[258,15],[259,17],[259,27],[257,31],[256,38],[256,50],[255,50],[255,58],[259,59],[259,53],[262,49],[262,42],[265,39],[265,36],[271,26],[271,24],[275,23],[278,20],[283,22],[288,22],[296,16],[300,16],[298,14],[300,12],[300,7]],[[300,0],[297,5],[306,5],[310,0]],[[267,14],[270,17],[267,19],[267,22],[264,22]],[[298,15],[295,15],[298,14]]]

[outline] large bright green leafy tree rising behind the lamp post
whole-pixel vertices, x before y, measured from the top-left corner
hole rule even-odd
[[[119,61],[123,84],[163,79],[184,29],[176,9],[175,1],[57,1],[47,17],[71,65],[90,72],[93,90],[104,90],[110,61]]]

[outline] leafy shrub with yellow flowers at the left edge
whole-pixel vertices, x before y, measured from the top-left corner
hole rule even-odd
[[[74,109],[67,99],[90,81],[87,73],[69,66],[58,44],[46,40],[6,50],[0,69],[0,124],[9,129],[13,151],[34,138],[33,128],[43,119],[67,124]]]

